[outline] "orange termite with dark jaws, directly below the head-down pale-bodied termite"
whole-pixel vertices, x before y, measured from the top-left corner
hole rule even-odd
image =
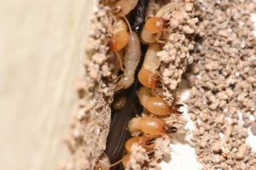
[[[172,112],[181,114],[182,111],[177,111],[181,104],[167,105],[166,101],[158,96],[153,96],[149,88],[140,88],[137,93],[141,104],[145,109],[155,116],[168,116]]]

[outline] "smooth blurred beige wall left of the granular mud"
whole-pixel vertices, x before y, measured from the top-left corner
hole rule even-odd
[[[55,169],[95,0],[0,1],[0,169]]]

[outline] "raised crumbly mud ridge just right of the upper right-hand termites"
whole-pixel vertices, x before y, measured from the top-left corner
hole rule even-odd
[[[173,94],[187,65],[193,62],[189,51],[194,49],[193,35],[200,33],[196,24],[194,0],[168,3],[160,9],[158,16],[170,20],[166,33],[166,44],[158,53],[160,57],[160,75],[162,79],[164,97],[172,103]]]

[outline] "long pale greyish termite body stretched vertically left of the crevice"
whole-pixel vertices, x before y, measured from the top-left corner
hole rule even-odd
[[[141,57],[141,48],[137,33],[131,31],[130,39],[125,47],[124,65],[125,70],[123,76],[117,83],[116,91],[122,88],[129,88],[134,82],[134,74]]]

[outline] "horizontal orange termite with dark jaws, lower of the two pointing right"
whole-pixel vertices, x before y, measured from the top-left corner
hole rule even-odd
[[[149,136],[160,136],[177,132],[177,127],[172,127],[159,118],[149,116],[131,119],[128,129],[131,133],[142,131]]]

